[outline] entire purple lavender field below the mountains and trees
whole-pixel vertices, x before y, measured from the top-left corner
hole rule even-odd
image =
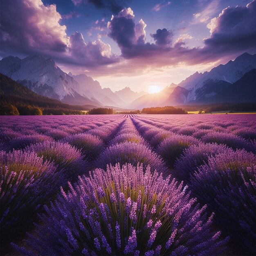
[[[255,115],[1,119],[1,255],[255,254]]]

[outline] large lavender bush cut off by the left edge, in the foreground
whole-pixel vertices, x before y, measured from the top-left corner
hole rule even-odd
[[[29,227],[29,221],[58,189],[61,179],[54,164],[34,152],[0,151],[1,251]]]

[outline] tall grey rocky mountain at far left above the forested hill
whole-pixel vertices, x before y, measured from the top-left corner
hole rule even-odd
[[[73,105],[102,106],[81,95],[79,83],[63,72],[51,58],[46,59],[41,55],[24,59],[9,56],[0,61],[0,72],[40,95]]]

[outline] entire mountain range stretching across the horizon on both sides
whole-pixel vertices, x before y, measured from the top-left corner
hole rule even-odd
[[[51,58],[41,55],[20,59],[8,56],[0,61],[0,73],[33,92],[71,105],[141,109],[207,103],[255,102],[256,54],[244,53],[234,61],[209,72],[171,84],[154,94],[133,92],[129,87],[113,92],[85,74],[63,72]],[[174,88],[174,89],[173,89]]]

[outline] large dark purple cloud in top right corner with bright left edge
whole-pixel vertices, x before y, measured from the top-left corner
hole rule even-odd
[[[225,51],[255,49],[256,2],[246,7],[227,7],[218,17],[211,19],[207,27],[211,36],[204,40],[207,47]]]

